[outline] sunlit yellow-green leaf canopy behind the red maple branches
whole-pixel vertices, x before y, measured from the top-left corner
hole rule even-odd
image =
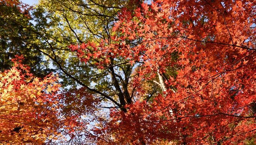
[[[106,79],[108,72],[94,65],[97,60],[85,65],[74,52],[70,52],[68,46],[92,39],[96,43],[99,43],[100,38],[110,39],[110,29],[117,20],[120,8],[136,7],[130,3],[127,0],[41,0],[32,14],[35,21],[32,31],[37,35],[37,40],[30,43],[53,62],[64,86],[76,87],[79,84],[72,76],[100,91],[109,90]],[[116,63],[123,61],[117,60]]]

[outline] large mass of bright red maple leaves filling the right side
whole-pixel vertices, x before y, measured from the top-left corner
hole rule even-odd
[[[111,121],[94,130],[98,142],[241,144],[254,138],[255,14],[253,0],[155,0],[123,9],[111,39],[71,45],[81,61],[97,59],[99,69],[120,57],[140,66],[131,79],[138,98],[146,95],[140,87],[146,80],[177,68],[152,101],[112,110]]]

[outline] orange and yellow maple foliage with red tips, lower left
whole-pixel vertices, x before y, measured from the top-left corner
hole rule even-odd
[[[61,118],[58,76],[34,77],[16,55],[14,66],[0,73],[0,141],[4,144],[44,144],[57,139],[63,124],[76,118]]]

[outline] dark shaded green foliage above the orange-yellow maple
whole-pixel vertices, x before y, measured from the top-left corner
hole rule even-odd
[[[16,7],[0,5],[0,70],[12,67],[10,59],[15,58],[16,54],[22,54],[32,73],[45,76],[53,70],[45,65],[41,53],[28,44],[35,36],[23,26],[32,26],[28,17]]]

